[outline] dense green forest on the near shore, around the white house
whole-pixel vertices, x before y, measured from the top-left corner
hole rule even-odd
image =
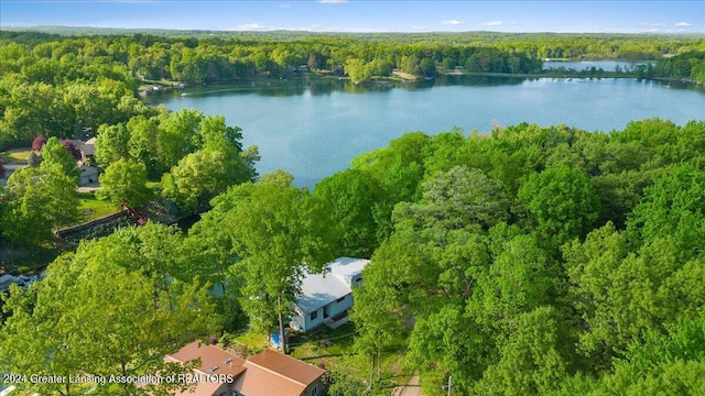
[[[154,351],[159,338],[276,328],[304,265],[352,255],[372,258],[352,320],[375,394],[384,393],[390,351],[404,353],[429,395],[443,394],[448,376],[455,394],[699,394],[703,160],[703,121],[650,119],[609,134],[519,124],[490,135],[409,133],[313,191],[283,172],[235,180],[187,234],[148,224],[85,241],[45,280],[13,290],[0,367],[75,374],[70,362],[80,361],[108,373],[130,362],[139,373],[155,361],[130,346],[142,326],[188,318],[140,339]],[[223,297],[206,295],[214,285]],[[145,302],[154,311],[131,318],[141,302],[128,295],[142,294],[171,302]],[[109,314],[122,304],[124,315]],[[208,320],[194,317],[196,304]],[[56,342],[80,348],[37,365]],[[111,352],[120,348],[130,353]],[[334,394],[367,388],[366,373],[335,378]]]

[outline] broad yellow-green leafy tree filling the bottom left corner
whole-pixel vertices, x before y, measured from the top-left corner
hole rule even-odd
[[[12,290],[4,308],[11,315],[0,329],[3,372],[109,378],[193,370],[193,364],[174,366],[163,358],[215,330],[217,318],[206,289],[178,280],[169,290],[155,288],[149,273],[123,265],[134,256],[127,241],[104,241],[83,243],[75,254],[52,263],[44,280],[26,292]],[[90,385],[28,382],[20,386],[75,395]],[[166,382],[150,386],[161,395],[187,387]],[[135,395],[145,389],[124,382],[99,385],[98,392]]]

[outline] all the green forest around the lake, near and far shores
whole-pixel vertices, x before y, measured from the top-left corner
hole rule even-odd
[[[0,147],[33,143],[30,166],[0,187],[0,243],[57,243],[52,230],[77,221],[76,158],[62,140],[76,135],[97,136],[104,199],[200,215],[187,231],[148,222],[84,240],[45,279],[3,294],[0,372],[189,370],[163,355],[248,324],[281,331],[304,272],[347,255],[371,258],[354,290],[352,348],[340,356],[365,365],[327,367],[333,395],[389,394],[386,362],[398,355],[427,395],[446,394],[448,377],[455,395],[705,392],[705,120],[647,119],[610,133],[528,123],[486,135],[413,132],[308,190],[283,170],[258,175],[257,147],[241,144],[248,131],[223,117],[135,97],[149,73],[210,82],[239,78],[237,65],[245,76],[302,62],[329,73],[349,74],[354,59],[404,68],[414,56],[443,68],[454,54],[464,67],[485,54],[533,65],[546,54],[532,45],[544,51],[541,40],[554,36],[479,45],[490,34],[468,34],[456,45],[441,34],[274,42],[279,34],[0,33]],[[651,78],[693,79],[704,67],[697,40],[564,38],[563,51],[594,41],[672,55],[643,70]],[[66,396],[90,387],[18,385]]]

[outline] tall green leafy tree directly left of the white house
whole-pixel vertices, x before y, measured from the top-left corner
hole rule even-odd
[[[221,223],[228,224],[224,232],[230,235],[245,277],[245,311],[259,330],[269,332],[279,323],[284,352],[284,326],[304,272],[321,271],[333,258],[326,232],[330,220],[312,207],[307,190],[291,185],[292,179],[279,170],[216,200],[216,208],[228,208]]]

